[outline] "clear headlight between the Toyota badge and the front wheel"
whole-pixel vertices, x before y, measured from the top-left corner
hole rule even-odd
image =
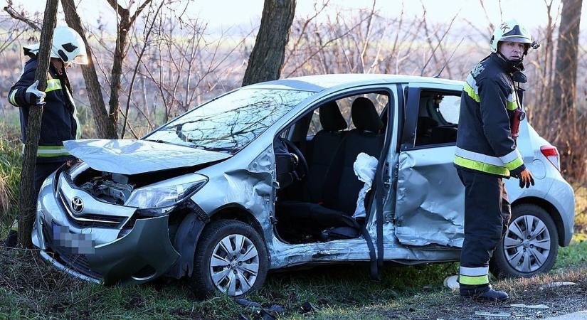
[[[208,182],[201,174],[186,174],[132,191],[125,206],[139,209],[166,208],[191,196]]]

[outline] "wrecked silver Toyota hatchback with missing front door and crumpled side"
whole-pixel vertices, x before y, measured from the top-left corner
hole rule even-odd
[[[384,261],[458,261],[461,90],[396,75],[292,78],[228,92],[139,140],[65,142],[80,162],[43,184],[33,243],[89,281],[183,278],[201,296],[246,294],[299,265],[371,262],[378,277]],[[525,277],[571,241],[574,196],[558,151],[526,120],[518,143],[536,185],[506,181],[513,217],[491,268]]]

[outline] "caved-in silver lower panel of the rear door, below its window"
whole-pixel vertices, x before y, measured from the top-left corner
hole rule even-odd
[[[400,154],[395,233],[403,245],[462,246],[464,187],[453,165],[454,149]]]

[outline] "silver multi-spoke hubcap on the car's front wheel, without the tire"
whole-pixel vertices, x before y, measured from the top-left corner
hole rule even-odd
[[[259,254],[244,235],[228,235],[212,252],[210,274],[216,288],[231,296],[247,292],[259,272]]]

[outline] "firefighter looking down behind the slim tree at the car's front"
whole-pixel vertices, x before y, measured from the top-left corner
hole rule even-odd
[[[63,141],[79,139],[80,124],[66,69],[72,63],[88,63],[82,37],[72,28],[58,26],[53,31],[47,88],[43,92],[38,90],[38,81],[35,81],[38,50],[38,43],[23,47],[24,55],[30,59],[26,61],[21,77],[11,87],[8,95],[11,105],[20,108],[23,142],[26,141],[28,108],[33,105],[44,105],[34,174],[35,196],[49,174],[73,159],[63,147]],[[18,219],[14,221],[8,237],[4,240],[8,247],[16,245],[17,221]]]

